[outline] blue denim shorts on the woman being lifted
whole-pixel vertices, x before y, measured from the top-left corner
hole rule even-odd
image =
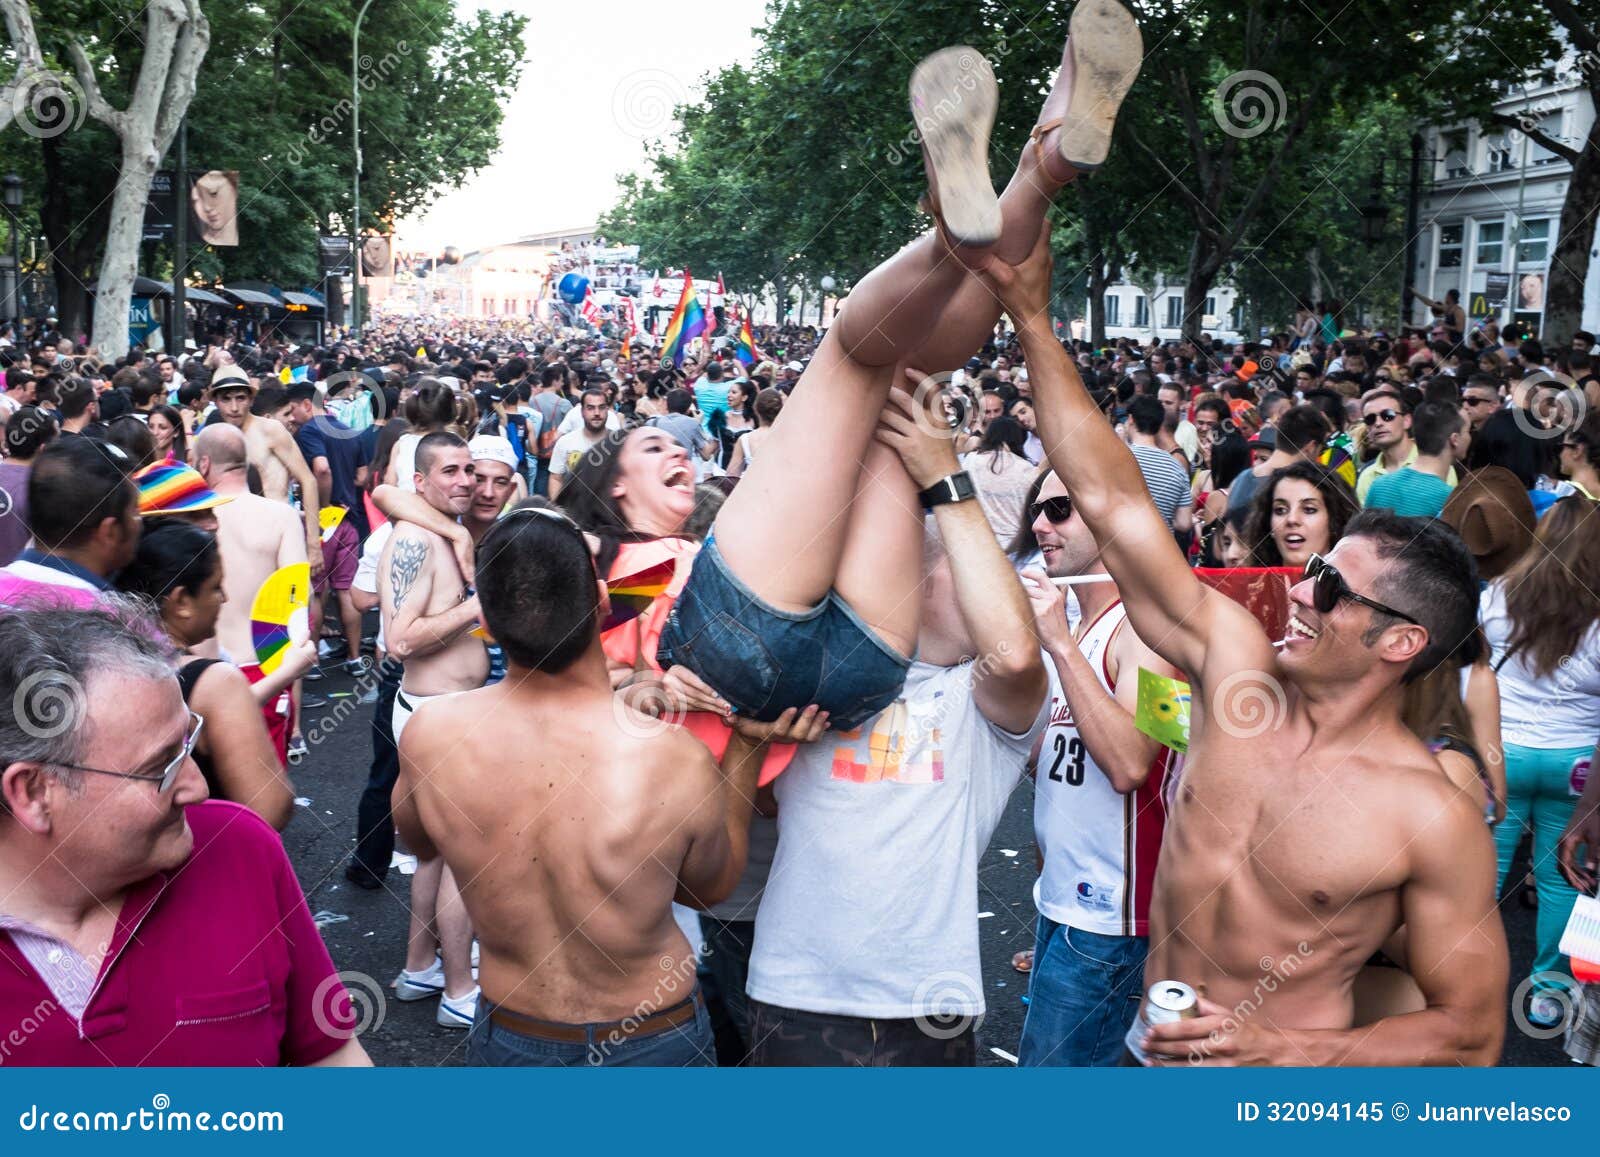
[[[899,698],[910,659],[835,592],[798,615],[763,603],[707,538],[661,631],[656,659],[704,679],[741,715],[771,722],[818,704],[851,731]]]

